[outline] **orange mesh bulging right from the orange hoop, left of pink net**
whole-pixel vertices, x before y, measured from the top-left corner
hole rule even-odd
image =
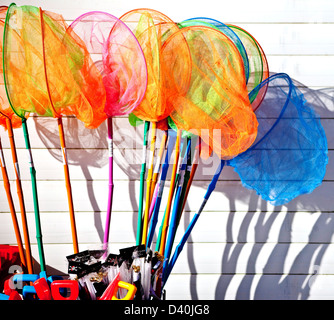
[[[105,119],[102,75],[82,39],[62,16],[43,11],[45,67],[54,109],[75,115],[87,128]]]

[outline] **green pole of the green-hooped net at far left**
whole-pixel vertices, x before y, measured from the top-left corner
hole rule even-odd
[[[40,221],[40,216],[39,216],[39,206],[38,206],[38,196],[37,196],[36,170],[35,170],[34,162],[32,159],[29,134],[28,134],[28,128],[27,128],[26,121],[27,121],[26,119],[22,119],[22,128],[23,128],[23,133],[24,133],[24,141],[25,141],[26,149],[29,152],[30,175],[31,175],[32,193],[33,193],[33,198],[34,198],[36,238],[37,238],[39,260],[40,260],[40,265],[41,265],[41,271],[45,271],[45,258],[44,258],[41,221]]]

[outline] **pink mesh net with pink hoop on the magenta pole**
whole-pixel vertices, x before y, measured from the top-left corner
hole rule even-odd
[[[146,61],[132,31],[105,12],[89,12],[70,28],[96,57],[106,89],[108,117],[129,114],[142,101],[147,84]]]

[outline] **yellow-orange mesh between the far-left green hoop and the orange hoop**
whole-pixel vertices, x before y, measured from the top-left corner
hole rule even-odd
[[[4,77],[11,106],[27,113],[52,116],[44,74],[39,10],[11,5],[5,24]]]

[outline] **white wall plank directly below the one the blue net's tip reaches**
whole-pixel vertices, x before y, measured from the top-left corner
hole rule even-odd
[[[106,210],[76,212],[79,243],[98,245],[103,241]],[[164,211],[160,212],[153,241],[156,241]],[[175,236],[178,244],[194,212],[184,212]],[[15,243],[16,238],[9,213],[1,213],[0,243]],[[22,230],[21,214],[17,219]],[[72,243],[69,214],[42,212],[40,214],[43,243]],[[27,213],[30,241],[36,244],[35,218]],[[188,243],[299,243],[330,244],[333,235],[333,212],[204,212],[191,232]],[[137,214],[113,211],[110,222],[111,244],[135,243]],[[154,246],[155,247],[155,246]]]

